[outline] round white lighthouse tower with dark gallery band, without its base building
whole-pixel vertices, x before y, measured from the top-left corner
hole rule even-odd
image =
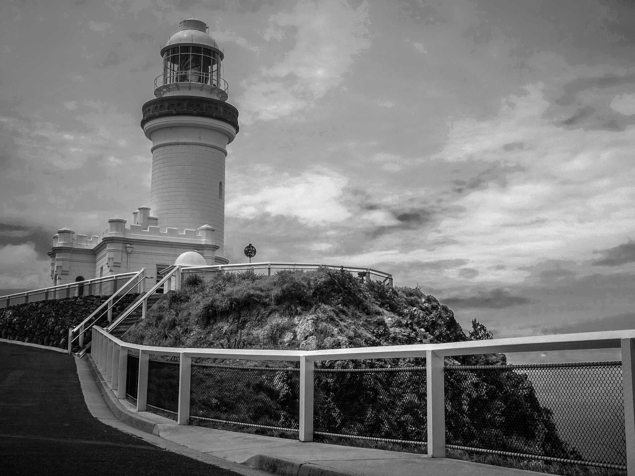
[[[211,225],[222,255],[226,147],[238,132],[238,111],[225,102],[224,55],[207,25],[190,18],[178,26],[161,50],[156,99],[142,107],[141,126],[152,140],[150,208],[161,227]]]

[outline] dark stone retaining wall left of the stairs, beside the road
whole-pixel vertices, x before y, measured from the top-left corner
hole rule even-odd
[[[137,298],[128,294],[112,309],[116,317]],[[69,327],[77,326],[97,309],[109,296],[74,296],[72,298],[36,301],[0,309],[0,336],[51,347],[68,348]],[[105,324],[107,320],[100,320]],[[90,341],[90,333],[84,343]],[[79,347],[73,348],[74,351]]]

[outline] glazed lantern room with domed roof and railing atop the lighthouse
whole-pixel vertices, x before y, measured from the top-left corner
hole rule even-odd
[[[224,55],[207,30],[206,23],[195,18],[178,24],[178,31],[161,50],[163,74],[154,82],[157,98],[194,95],[227,100],[227,83],[222,78]]]

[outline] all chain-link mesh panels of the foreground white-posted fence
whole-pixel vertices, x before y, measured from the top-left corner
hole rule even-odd
[[[178,411],[178,362],[150,359],[147,404]],[[192,364],[190,416],[297,432],[300,371]],[[137,397],[138,357],[126,393]],[[621,362],[445,367],[446,446],[625,468]],[[314,433],[426,446],[425,367],[314,371]]]

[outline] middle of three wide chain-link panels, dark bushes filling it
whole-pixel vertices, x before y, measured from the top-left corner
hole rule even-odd
[[[315,369],[314,433],[425,446],[425,367]]]

